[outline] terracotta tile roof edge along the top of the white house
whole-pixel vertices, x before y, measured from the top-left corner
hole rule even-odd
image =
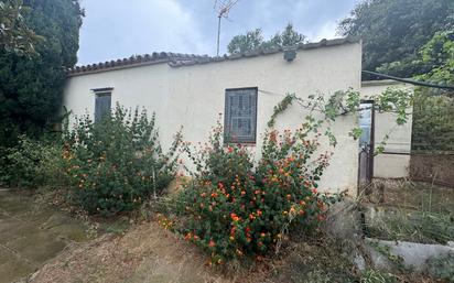
[[[357,37],[344,37],[344,39],[335,39],[335,40],[321,40],[320,42],[314,43],[303,43],[296,46],[296,50],[312,50],[324,46],[335,46],[342,45],[346,43],[357,43],[359,39]],[[216,62],[224,62],[224,61],[234,61],[247,57],[256,57],[269,54],[275,54],[283,52],[282,47],[279,48],[271,48],[271,50],[262,50],[258,48],[251,52],[246,53],[238,53],[233,55],[224,55],[224,56],[214,56],[210,57],[208,55],[195,55],[195,54],[181,54],[181,53],[172,53],[172,52],[153,52],[152,54],[144,54],[144,55],[134,55],[129,58],[122,58],[117,61],[110,61],[105,63],[98,64],[90,64],[85,66],[76,66],[74,68],[67,69],[68,76],[77,76],[90,73],[99,73],[99,72],[107,72],[112,69],[119,68],[127,68],[127,67],[136,67],[136,66],[143,66],[143,65],[152,65],[152,64],[160,64],[160,63],[167,63],[171,67],[183,67],[183,66],[192,66],[197,64],[208,64],[208,63],[216,63]]]

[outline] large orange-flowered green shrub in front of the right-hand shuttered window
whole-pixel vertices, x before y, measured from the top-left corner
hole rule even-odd
[[[209,144],[195,154],[186,150],[196,171],[180,195],[174,229],[207,250],[212,263],[223,263],[260,260],[295,226],[315,227],[333,200],[316,192],[329,155],[311,159],[320,143],[305,131],[267,134],[255,167],[245,146],[223,146],[218,124]]]

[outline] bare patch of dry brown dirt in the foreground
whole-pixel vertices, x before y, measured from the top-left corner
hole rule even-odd
[[[230,282],[216,275],[205,260],[195,247],[147,222],[122,237],[105,236],[66,250],[30,282]]]

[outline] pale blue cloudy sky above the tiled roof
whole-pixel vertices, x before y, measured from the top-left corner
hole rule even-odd
[[[78,65],[152,52],[216,54],[216,0],[82,0]],[[221,21],[220,54],[237,34],[261,28],[266,39],[293,23],[310,41],[336,37],[358,0],[239,0]]]

